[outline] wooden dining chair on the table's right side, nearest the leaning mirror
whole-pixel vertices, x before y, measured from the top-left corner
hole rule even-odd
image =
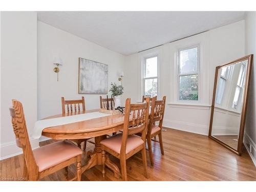
[[[158,136],[160,148],[161,148],[161,154],[164,155],[163,140],[162,140],[162,125],[163,125],[163,117],[164,117],[164,110],[165,110],[165,99],[166,99],[166,96],[163,97],[163,100],[156,100],[156,97],[153,97],[152,103],[151,103],[150,123],[148,124],[146,141],[148,146],[148,152],[150,154],[150,162],[152,166],[154,165],[154,156],[153,156],[152,145],[151,145],[151,141],[153,137]],[[155,124],[155,122],[157,121],[159,121],[158,125]]]

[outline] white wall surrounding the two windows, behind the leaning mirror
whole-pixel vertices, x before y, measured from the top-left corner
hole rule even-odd
[[[193,42],[203,44],[202,68],[204,70],[204,90],[207,95],[199,104],[177,104],[175,101],[173,53],[180,45],[189,46]],[[127,56],[125,59],[124,98],[131,97],[133,102],[141,100],[141,57],[150,52],[159,52],[159,97],[166,95],[164,126],[173,129],[208,135],[210,105],[216,66],[223,65],[244,56],[244,20],[208,32],[188,37],[161,47]],[[208,65],[208,67],[207,67]]]

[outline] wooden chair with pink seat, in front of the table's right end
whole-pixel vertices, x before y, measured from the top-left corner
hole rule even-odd
[[[127,181],[126,159],[141,151],[144,175],[147,174],[145,139],[148,124],[149,98],[146,102],[131,104],[131,99],[126,99],[123,133],[102,140],[102,175],[105,177],[105,152],[120,159],[122,179]],[[132,114],[130,116],[130,113]],[[130,119],[132,121],[130,122]],[[141,136],[134,135],[141,133]]]

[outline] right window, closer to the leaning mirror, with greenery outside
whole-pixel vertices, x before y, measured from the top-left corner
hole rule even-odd
[[[198,100],[200,47],[191,46],[178,51],[179,100]]]

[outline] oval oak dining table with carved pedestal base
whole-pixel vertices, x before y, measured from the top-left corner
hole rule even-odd
[[[99,110],[89,110],[86,112],[66,113],[54,115],[45,119],[78,115],[83,113],[98,112]],[[95,165],[102,165],[102,151],[100,141],[106,138],[107,134],[118,132],[123,128],[124,115],[109,115],[69,124],[47,127],[42,131],[42,136],[52,139],[90,139],[95,138],[95,147],[93,151],[87,152],[89,160],[82,165],[81,172],[94,167]],[[115,174],[116,178],[120,177],[120,170],[118,166],[113,163],[109,156],[106,156],[105,165],[109,167]]]

